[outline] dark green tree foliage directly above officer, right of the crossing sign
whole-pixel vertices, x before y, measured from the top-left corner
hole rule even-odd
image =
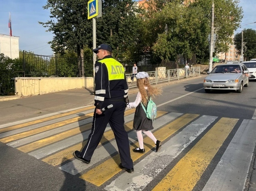
[[[137,6],[133,0],[102,1],[102,17],[97,18],[97,44],[107,43],[121,62],[130,59],[139,38]]]

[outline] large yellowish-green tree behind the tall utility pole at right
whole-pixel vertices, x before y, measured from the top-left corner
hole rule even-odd
[[[238,0],[214,1],[214,26],[218,34],[215,53],[225,52],[232,42],[233,31],[242,19]],[[208,34],[211,24],[212,0],[194,1],[185,5],[178,1],[149,0],[144,14],[148,27],[148,46],[161,59],[175,59],[181,54],[199,60],[208,59]],[[198,61],[199,61],[198,60]]]

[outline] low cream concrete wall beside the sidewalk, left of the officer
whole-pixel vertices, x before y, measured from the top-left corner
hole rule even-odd
[[[19,96],[42,95],[76,88],[93,87],[93,78],[15,78],[15,90]]]

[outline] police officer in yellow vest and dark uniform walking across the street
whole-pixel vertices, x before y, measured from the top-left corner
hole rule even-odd
[[[130,154],[128,134],[124,128],[125,98],[128,86],[123,65],[115,60],[112,48],[108,44],[101,44],[93,52],[97,54],[95,63],[95,110],[93,115],[92,130],[82,152],[75,151],[74,157],[86,164],[91,162],[94,150],[103,136],[107,123],[114,132],[121,163],[119,168],[128,173],[133,172],[133,162]],[[101,111],[109,105],[112,108]]]

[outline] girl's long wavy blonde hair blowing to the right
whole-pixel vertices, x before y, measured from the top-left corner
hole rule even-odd
[[[152,87],[149,82],[149,78],[137,79],[137,86],[141,94],[141,101],[144,106],[147,106],[148,99],[160,95],[162,90],[158,87]],[[148,91],[144,88],[148,87]]]

